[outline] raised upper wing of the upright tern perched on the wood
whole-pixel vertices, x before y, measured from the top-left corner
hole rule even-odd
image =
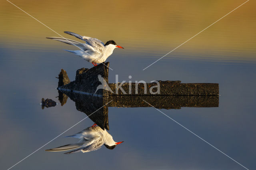
[[[102,53],[104,50],[104,47],[105,47],[104,43],[102,41],[98,40],[97,38],[80,36],[79,34],[76,34],[74,32],[68,32],[68,31],[65,31],[64,33],[74,36],[76,38],[79,38],[80,40],[84,40],[86,42],[86,44],[88,44],[94,48],[95,52]]]

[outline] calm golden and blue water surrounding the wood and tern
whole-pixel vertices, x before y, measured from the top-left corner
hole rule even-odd
[[[154,65],[145,67],[245,1],[11,1],[65,38],[63,31],[114,40],[109,82],[181,80],[219,83],[218,107],[161,109],[248,169],[256,169],[255,2],[232,12]],[[58,73],[70,80],[93,65],[47,40],[58,36],[5,1],[0,4],[0,166],[8,169],[86,117],[75,102],[58,101]],[[132,76],[129,79],[128,76]],[[108,107],[113,150],[46,152],[77,142],[64,136],[94,124],[85,119],[12,169],[244,169],[152,107]]]

